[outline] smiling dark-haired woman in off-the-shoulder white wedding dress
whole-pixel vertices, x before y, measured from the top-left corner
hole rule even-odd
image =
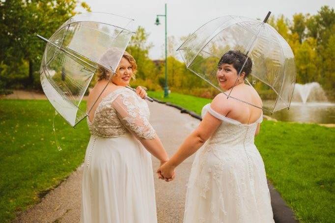
[[[160,178],[169,181],[174,168],[196,152],[184,223],[274,223],[263,160],[254,145],[262,122],[262,100],[244,82],[251,68],[251,59],[239,51],[221,57],[220,87],[226,95],[234,87],[230,96],[247,103],[218,94],[203,107],[195,131],[157,170]]]

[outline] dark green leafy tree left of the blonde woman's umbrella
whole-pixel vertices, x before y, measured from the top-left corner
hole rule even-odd
[[[78,3],[87,11],[85,2],[78,0],[5,0],[0,1],[0,62],[6,65],[2,79],[21,73],[21,64],[28,66],[28,79],[32,86],[38,80],[39,64],[45,43],[36,34],[50,37],[66,20],[75,15]],[[3,67],[1,66],[3,71]],[[1,69],[0,68],[0,69]],[[1,72],[0,71],[0,72]],[[37,76],[36,78],[34,78]],[[37,82],[39,86],[39,82]]]

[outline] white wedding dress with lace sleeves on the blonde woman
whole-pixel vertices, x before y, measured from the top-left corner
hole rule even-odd
[[[122,87],[102,99],[92,123],[82,183],[82,223],[157,223],[149,109]],[[136,138],[136,137],[137,138]]]

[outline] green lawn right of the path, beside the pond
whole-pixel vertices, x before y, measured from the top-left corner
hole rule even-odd
[[[198,114],[210,100],[148,92]],[[255,139],[267,178],[302,223],[335,220],[335,128],[316,124],[263,121]]]

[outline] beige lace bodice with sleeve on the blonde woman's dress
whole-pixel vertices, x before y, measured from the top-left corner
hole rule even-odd
[[[91,135],[97,137],[114,138],[131,132],[137,138],[153,139],[155,130],[148,121],[149,116],[146,102],[122,87],[100,102],[92,123],[88,118],[87,123]]]

